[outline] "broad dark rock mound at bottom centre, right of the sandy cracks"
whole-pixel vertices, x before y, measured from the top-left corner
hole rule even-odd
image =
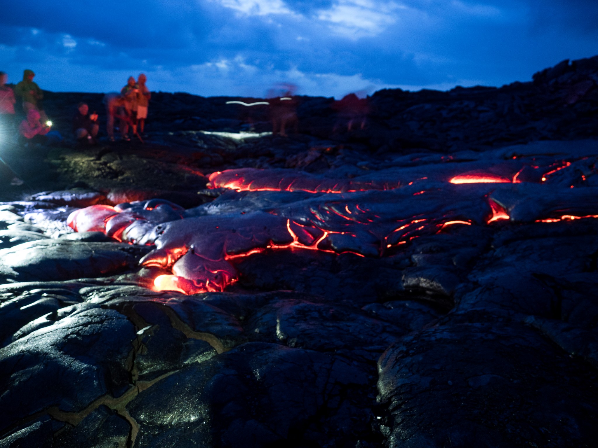
[[[247,343],[141,392],[134,446],[355,445],[373,419],[370,378],[332,354]]]

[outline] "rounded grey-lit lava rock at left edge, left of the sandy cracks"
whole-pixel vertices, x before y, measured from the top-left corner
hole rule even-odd
[[[77,413],[122,394],[135,337],[124,315],[91,309],[0,349],[0,431],[44,409]]]

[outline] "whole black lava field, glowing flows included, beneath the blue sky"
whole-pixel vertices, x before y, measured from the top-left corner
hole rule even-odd
[[[0,448],[593,447],[596,79],[297,97],[286,139],[155,93],[145,146],[52,149],[0,203]]]

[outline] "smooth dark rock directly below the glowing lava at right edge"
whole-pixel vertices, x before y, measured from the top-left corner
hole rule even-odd
[[[585,232],[583,228],[573,231],[563,222],[549,223],[542,229],[534,224],[499,234],[495,250],[481,259],[469,275],[475,286],[459,294],[457,309],[499,308],[561,318],[568,300],[557,284],[583,275],[596,281],[596,269],[592,267],[598,251],[596,224],[588,225],[590,229]],[[533,237],[523,239],[524,235]]]

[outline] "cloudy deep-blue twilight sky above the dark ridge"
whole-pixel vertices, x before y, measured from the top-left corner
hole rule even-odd
[[[0,70],[54,91],[342,97],[527,81],[598,54],[598,0],[2,0]]]

